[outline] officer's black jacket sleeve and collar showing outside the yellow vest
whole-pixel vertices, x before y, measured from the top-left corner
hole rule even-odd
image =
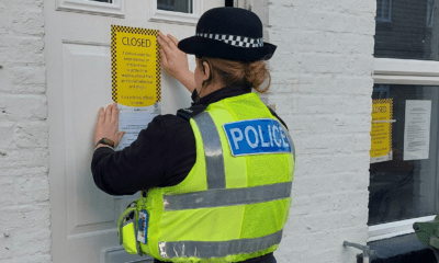
[[[98,148],[91,161],[95,185],[111,195],[131,195],[142,190],[179,184],[196,159],[195,137],[188,121],[190,115],[204,111],[211,103],[250,91],[248,87],[227,87],[200,100],[195,91],[191,111],[179,111],[180,116],[168,114],[155,117],[130,147],[122,151]],[[243,263],[271,262],[275,262],[272,253]]]

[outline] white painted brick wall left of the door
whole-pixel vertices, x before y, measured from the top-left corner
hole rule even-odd
[[[0,262],[52,262],[43,0],[0,0]]]

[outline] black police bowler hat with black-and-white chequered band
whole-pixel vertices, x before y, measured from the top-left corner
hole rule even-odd
[[[206,11],[196,24],[196,34],[180,41],[178,47],[198,56],[229,60],[270,59],[275,46],[262,39],[262,22],[251,11],[215,8]]]

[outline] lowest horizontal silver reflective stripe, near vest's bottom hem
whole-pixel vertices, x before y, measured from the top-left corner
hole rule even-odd
[[[275,233],[255,238],[239,239],[219,242],[203,241],[177,241],[177,242],[159,242],[158,248],[160,256],[165,259],[173,258],[224,258],[232,254],[248,254],[269,249],[274,244],[279,244],[282,239],[282,230]]]

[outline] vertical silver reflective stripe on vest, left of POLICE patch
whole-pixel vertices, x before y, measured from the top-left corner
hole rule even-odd
[[[219,134],[211,115],[202,112],[193,121],[199,126],[203,139],[204,156],[207,172],[207,188],[225,188],[226,175],[224,171],[223,147],[221,146]]]

